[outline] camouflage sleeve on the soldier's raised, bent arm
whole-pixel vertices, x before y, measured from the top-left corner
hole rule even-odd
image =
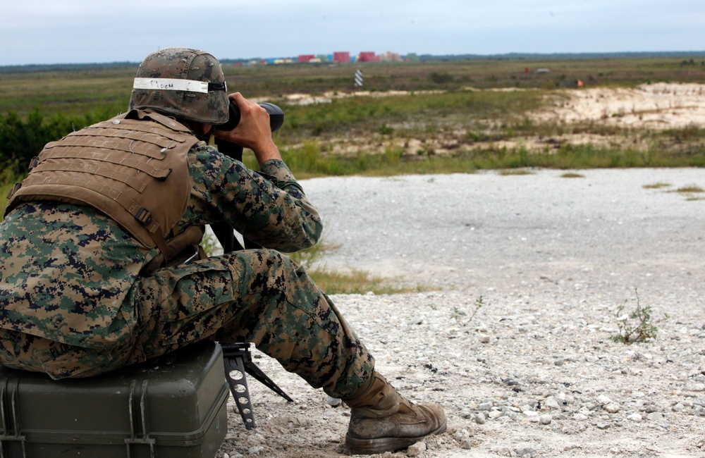
[[[253,242],[283,252],[319,240],[321,218],[283,161],[266,161],[258,173],[200,143],[189,153],[189,167],[194,185],[182,223],[226,221]]]

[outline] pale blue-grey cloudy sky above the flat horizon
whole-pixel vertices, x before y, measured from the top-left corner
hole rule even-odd
[[[705,50],[705,0],[4,0],[0,66],[386,51]]]

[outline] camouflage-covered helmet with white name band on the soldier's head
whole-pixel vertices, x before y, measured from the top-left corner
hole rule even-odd
[[[154,109],[205,124],[228,120],[228,92],[220,63],[190,48],[164,48],[140,64],[130,110]]]

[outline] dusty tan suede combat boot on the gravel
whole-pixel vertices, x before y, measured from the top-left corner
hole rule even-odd
[[[395,452],[429,434],[446,431],[446,414],[438,404],[413,404],[379,373],[362,385],[350,407],[345,445],[350,454]]]

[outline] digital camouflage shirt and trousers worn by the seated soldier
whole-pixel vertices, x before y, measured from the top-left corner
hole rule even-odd
[[[82,377],[197,340],[246,341],[312,386],[352,395],[374,359],[305,271],[275,251],[309,247],[321,234],[298,182],[282,161],[255,173],[204,142],[188,161],[194,185],[176,233],[227,221],[267,248],[141,276],[159,250],[103,213],[21,204],[0,225],[0,363]],[[70,314],[85,317],[85,326],[68,326]]]

